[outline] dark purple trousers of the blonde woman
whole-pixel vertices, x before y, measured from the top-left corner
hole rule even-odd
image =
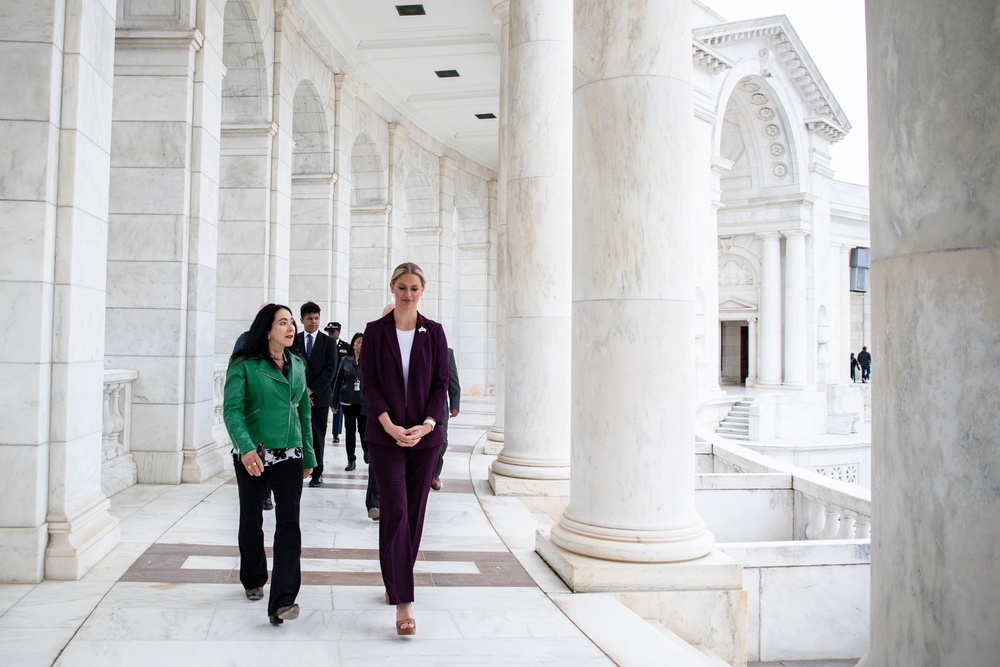
[[[413,602],[413,566],[441,447],[368,443],[379,492],[378,556],[390,604]]]

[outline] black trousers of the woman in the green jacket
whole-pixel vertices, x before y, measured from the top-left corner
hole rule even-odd
[[[288,459],[264,468],[260,477],[247,472],[233,457],[236,486],[240,493],[240,583],[257,588],[267,583],[267,554],[264,551],[265,486],[274,494],[274,545],[271,549],[271,593],[268,616],[280,607],[294,604],[302,585],[302,532],[299,529],[299,500],[302,498],[302,459]]]

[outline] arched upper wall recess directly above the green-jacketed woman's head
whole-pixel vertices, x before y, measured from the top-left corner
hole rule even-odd
[[[270,117],[270,86],[260,26],[247,0],[228,0],[224,14],[222,121]]]

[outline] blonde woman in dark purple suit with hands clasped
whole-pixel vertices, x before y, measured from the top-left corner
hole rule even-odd
[[[392,272],[394,308],[365,327],[361,384],[368,401],[369,452],[380,495],[379,564],[396,633],[413,635],[413,567],[420,549],[431,478],[444,434],[448,341],[417,311],[426,287],[412,262]]]

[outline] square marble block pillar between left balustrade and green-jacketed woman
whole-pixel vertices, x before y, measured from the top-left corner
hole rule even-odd
[[[225,465],[212,434],[222,78],[204,43],[183,24],[117,30],[105,345],[110,367],[138,371],[139,482],[201,482]]]

